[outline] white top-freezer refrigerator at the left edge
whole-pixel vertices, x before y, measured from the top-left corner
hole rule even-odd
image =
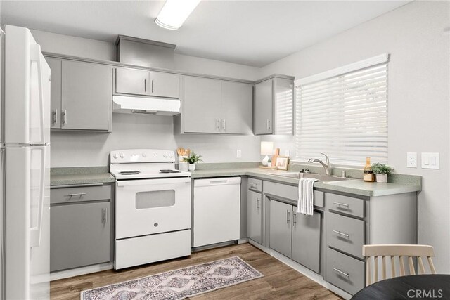
[[[1,296],[49,299],[50,67],[30,30],[0,42]]]

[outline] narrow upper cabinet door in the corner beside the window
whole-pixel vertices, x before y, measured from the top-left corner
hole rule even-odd
[[[273,80],[255,84],[255,99],[253,103],[253,133],[273,133]]]

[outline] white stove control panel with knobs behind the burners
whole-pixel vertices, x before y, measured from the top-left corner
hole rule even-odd
[[[157,149],[115,150],[110,153],[111,164],[133,162],[175,162],[175,152]]]

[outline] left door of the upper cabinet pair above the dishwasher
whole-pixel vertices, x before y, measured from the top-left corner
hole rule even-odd
[[[220,90],[220,80],[184,77],[184,132],[220,132]]]

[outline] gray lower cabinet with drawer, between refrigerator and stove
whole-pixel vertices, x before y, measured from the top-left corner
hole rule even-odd
[[[110,185],[51,190],[50,270],[112,261]]]

